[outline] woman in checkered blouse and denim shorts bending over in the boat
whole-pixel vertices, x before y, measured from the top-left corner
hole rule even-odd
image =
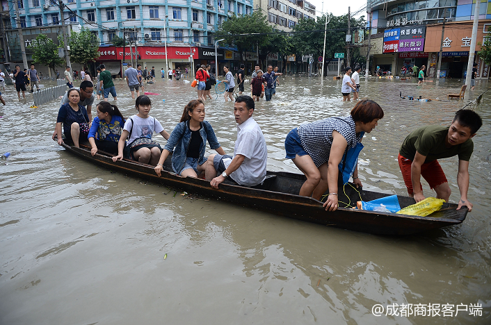
[[[331,117],[293,128],[284,141],[287,159],[307,177],[299,195],[320,200],[329,189],[325,210],[337,210],[338,165],[346,149],[361,142],[361,132],[370,133],[384,116],[382,108],[375,101],[364,99],[356,103],[351,115]],[[362,185],[358,178],[357,166],[353,172],[353,183]]]

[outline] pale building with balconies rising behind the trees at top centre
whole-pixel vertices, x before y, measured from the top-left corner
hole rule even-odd
[[[316,18],[315,6],[303,0],[254,0],[254,10],[261,10],[280,31],[291,31],[299,19]]]

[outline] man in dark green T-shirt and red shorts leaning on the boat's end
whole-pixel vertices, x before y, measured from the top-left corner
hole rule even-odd
[[[459,110],[448,126],[423,126],[412,131],[399,149],[399,167],[410,197],[416,202],[425,199],[421,176],[428,181],[438,199],[449,201],[451,190],[437,159],[458,156],[457,184],[460,190],[459,210],[472,203],[467,199],[469,190],[469,160],[474,151],[476,132],[483,125],[481,117],[472,110]]]

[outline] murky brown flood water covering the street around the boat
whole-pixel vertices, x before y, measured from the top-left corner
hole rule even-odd
[[[268,169],[299,173],[284,159],[287,133],[348,115],[354,103],[341,102],[341,81],[287,76],[280,83],[253,116],[266,137]],[[446,99],[462,81],[416,83],[362,78],[361,97],[385,111],[364,138],[359,176],[366,189],[407,194],[396,160],[402,141],[419,126],[449,125],[469,101],[399,98]],[[115,85],[117,105],[133,115],[126,82]],[[488,86],[477,81],[470,98]],[[196,97],[184,80],[159,78],[145,91],[160,94],[150,115],[168,131]],[[472,213],[459,226],[399,238],[190,199],[96,167],[51,140],[58,101],[29,108],[31,94],[19,102],[13,86],[2,93],[0,151],[12,156],[0,163],[0,324],[491,323],[490,96],[478,108],[484,125],[469,167]],[[219,95],[206,113],[233,153],[233,103]],[[458,158],[440,164],[458,201]],[[378,317],[377,304],[384,308]]]

